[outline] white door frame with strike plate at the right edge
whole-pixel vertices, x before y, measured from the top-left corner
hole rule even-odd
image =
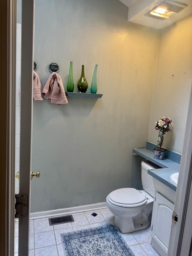
[[[191,255],[192,253],[192,90],[190,94],[187,123],[177,184],[174,211],[177,224],[172,224],[168,255]],[[177,245],[177,246],[175,246]]]

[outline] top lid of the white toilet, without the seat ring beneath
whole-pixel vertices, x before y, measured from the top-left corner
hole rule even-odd
[[[109,194],[110,199],[120,204],[137,204],[146,202],[146,197],[135,188],[119,188]]]

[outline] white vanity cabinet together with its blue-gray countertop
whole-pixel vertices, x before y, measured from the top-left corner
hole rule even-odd
[[[168,158],[159,160],[154,158],[154,147],[155,144],[147,141],[146,148],[137,148],[132,151],[134,155],[140,155],[160,167],[160,169],[148,170],[148,173],[153,177],[155,188],[151,244],[161,256],[167,256],[177,189],[177,185],[173,183],[170,176],[179,172],[181,154],[167,149]]]

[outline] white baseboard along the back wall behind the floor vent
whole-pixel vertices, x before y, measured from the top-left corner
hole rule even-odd
[[[105,209],[105,208],[107,208],[106,202],[93,203],[93,204],[56,209],[56,210],[50,210],[50,211],[44,211],[44,212],[32,212],[30,214],[30,219],[55,217],[59,215],[73,214],[77,212],[87,212],[91,210],[98,210],[98,209]]]

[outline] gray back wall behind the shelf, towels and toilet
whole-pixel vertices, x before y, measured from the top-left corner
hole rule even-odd
[[[117,188],[141,187],[155,79],[159,31],[129,23],[118,0],[37,0],[35,61],[44,87],[56,62],[66,89],[69,63],[75,84],[85,65],[91,84],[98,64],[101,99],[68,98],[57,106],[33,106],[31,211],[103,202]],[[90,88],[88,88],[90,92]]]

